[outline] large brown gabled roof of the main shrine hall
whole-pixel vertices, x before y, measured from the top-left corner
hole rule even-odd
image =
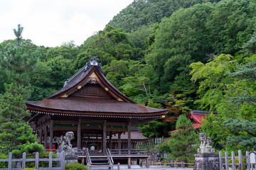
[[[42,101],[26,102],[26,106],[32,116],[48,114],[154,120],[168,112],[139,105],[124,96],[106,79],[95,58],[70,77],[60,91]]]

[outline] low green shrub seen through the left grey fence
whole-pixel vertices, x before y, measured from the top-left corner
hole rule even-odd
[[[36,154],[28,155],[26,158],[27,159],[35,159]],[[40,152],[39,153],[39,158],[48,159],[49,158],[49,152],[46,152],[46,151]],[[53,153],[53,158],[58,158],[58,155]],[[47,162],[47,161],[39,162],[38,166],[41,167],[41,168],[49,167],[49,162]],[[28,168],[35,167],[35,162],[26,162],[26,167],[28,167]],[[57,162],[53,162],[53,167],[57,167]]]

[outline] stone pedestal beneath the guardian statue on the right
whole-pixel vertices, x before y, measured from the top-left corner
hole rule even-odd
[[[193,170],[219,170],[220,164],[218,154],[203,153],[195,154],[195,164]]]

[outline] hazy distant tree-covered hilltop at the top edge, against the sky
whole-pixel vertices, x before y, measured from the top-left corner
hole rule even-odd
[[[122,28],[127,33],[131,33],[142,26],[161,23],[162,18],[170,17],[180,8],[190,8],[196,4],[218,1],[220,0],[136,0],[114,16],[108,25]]]

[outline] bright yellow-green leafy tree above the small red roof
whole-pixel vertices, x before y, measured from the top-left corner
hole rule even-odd
[[[202,62],[192,63],[191,80],[193,82],[201,80],[198,88],[198,94],[201,94],[201,99],[196,101],[201,103],[202,108],[208,108],[213,111],[218,103],[225,100],[228,101],[228,84],[233,82],[233,79],[228,76],[228,72],[233,72],[235,69],[235,60],[231,55],[219,55],[213,58],[206,64]]]

